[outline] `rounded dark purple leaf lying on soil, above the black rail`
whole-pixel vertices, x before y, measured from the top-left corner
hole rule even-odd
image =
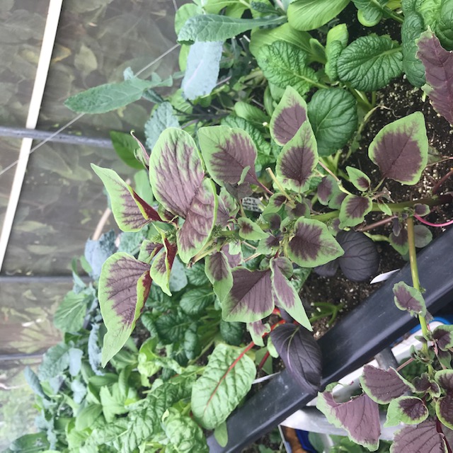
[[[349,280],[362,282],[377,273],[379,253],[369,237],[360,231],[340,231],[336,239],[345,252],[338,264]]]

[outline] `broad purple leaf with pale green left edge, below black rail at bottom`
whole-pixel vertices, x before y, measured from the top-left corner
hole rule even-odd
[[[379,406],[368,395],[337,403],[331,392],[324,391],[318,394],[316,407],[326,415],[329,423],[348,431],[350,440],[371,451],[377,449],[381,435]]]

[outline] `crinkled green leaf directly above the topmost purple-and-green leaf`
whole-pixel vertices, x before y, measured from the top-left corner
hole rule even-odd
[[[288,42],[261,47],[256,60],[265,78],[280,88],[292,86],[303,95],[312,86],[320,86],[316,72],[308,66],[308,54]]]

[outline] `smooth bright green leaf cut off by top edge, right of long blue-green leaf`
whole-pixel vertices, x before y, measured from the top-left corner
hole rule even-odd
[[[314,30],[331,21],[349,0],[295,0],[288,6],[288,21],[296,30]]]

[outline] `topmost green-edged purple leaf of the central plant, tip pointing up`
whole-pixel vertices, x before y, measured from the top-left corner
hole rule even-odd
[[[306,102],[294,88],[287,86],[270,119],[270,134],[277,144],[284,145],[306,120]]]

